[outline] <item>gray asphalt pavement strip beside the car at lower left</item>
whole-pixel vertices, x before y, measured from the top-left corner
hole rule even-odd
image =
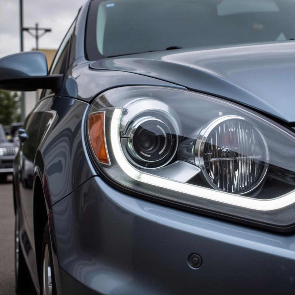
[[[0,183],[0,295],[14,291],[14,212],[12,178]]]

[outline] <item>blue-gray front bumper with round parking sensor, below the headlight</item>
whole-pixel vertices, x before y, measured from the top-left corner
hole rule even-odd
[[[99,177],[52,214],[62,294],[294,294],[295,235],[165,207]]]

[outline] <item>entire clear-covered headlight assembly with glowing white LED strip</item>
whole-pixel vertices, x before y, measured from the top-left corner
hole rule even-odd
[[[111,89],[91,105],[91,156],[129,193],[278,231],[295,227],[295,133],[192,91]]]

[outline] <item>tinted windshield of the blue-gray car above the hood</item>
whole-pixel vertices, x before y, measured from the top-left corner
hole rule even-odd
[[[92,1],[90,60],[179,47],[295,38],[295,0]]]

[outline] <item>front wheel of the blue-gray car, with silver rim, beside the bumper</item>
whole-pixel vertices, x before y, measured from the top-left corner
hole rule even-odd
[[[42,241],[40,294],[56,295],[52,250],[48,222],[45,225]]]

